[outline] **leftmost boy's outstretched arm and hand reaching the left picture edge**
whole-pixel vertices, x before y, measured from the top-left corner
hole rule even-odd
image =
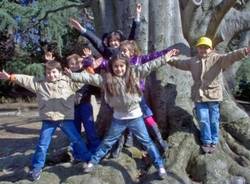
[[[37,91],[37,81],[33,76],[28,75],[17,75],[17,74],[8,74],[4,70],[0,72],[0,79],[1,80],[10,80],[15,82],[16,84],[28,89],[36,93]]]

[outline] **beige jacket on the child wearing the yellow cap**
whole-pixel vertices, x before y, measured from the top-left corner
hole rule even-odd
[[[222,101],[223,69],[246,57],[245,49],[239,49],[227,54],[211,52],[202,59],[196,56],[187,60],[171,60],[169,64],[191,72],[194,80],[191,98],[194,102]]]

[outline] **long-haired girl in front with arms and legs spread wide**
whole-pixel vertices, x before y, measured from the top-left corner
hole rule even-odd
[[[113,108],[113,120],[107,136],[102,144],[91,157],[85,168],[85,172],[91,172],[95,164],[111,149],[118,140],[122,132],[128,128],[136,138],[143,144],[149,153],[155,167],[158,169],[160,178],[166,175],[163,160],[150,139],[145,124],[142,119],[140,101],[142,92],[140,89],[140,79],[145,78],[151,71],[165,64],[174,52],[167,53],[165,60],[153,61],[141,66],[131,67],[129,59],[122,55],[115,55],[108,64],[108,72],[105,76],[99,74],[66,72],[75,81],[90,83],[102,87],[105,101]]]

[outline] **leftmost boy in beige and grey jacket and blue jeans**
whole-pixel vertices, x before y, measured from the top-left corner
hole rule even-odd
[[[86,162],[89,161],[91,156],[74,126],[74,94],[75,90],[79,89],[79,83],[73,83],[67,76],[63,76],[61,65],[57,61],[48,61],[45,66],[46,77],[41,80],[33,76],[9,75],[5,71],[0,72],[0,79],[15,82],[37,95],[42,128],[32,160],[31,176],[33,180],[39,180],[40,178],[46,153],[57,127],[75,145],[79,153],[79,159]]]

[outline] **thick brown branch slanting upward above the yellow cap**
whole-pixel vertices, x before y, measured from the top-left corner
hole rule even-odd
[[[218,6],[216,6],[207,27],[206,35],[208,37],[212,39],[214,38],[222,19],[230,10],[230,8],[235,5],[236,2],[237,0],[225,0],[222,1]]]

